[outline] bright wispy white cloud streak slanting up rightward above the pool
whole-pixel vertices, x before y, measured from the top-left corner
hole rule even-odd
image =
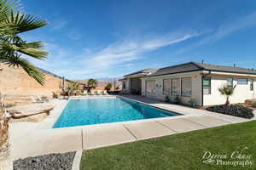
[[[163,48],[174,43],[183,42],[191,37],[199,36],[197,32],[172,33],[158,37],[126,38],[123,41],[113,42],[106,48],[90,54],[90,59],[84,59],[88,65],[86,73],[106,72],[117,65],[131,64],[131,61],[144,59],[144,55],[158,48]],[[109,75],[107,75],[109,76]],[[120,75],[118,75],[120,76]]]

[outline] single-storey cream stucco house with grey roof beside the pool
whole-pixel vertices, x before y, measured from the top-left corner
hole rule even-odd
[[[256,70],[223,65],[189,62],[160,69],[146,69],[125,75],[124,91],[155,99],[174,99],[197,105],[221,105],[225,98],[218,92],[225,84],[236,85],[230,103],[242,103],[256,97]]]

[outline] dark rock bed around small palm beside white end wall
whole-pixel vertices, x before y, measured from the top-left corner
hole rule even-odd
[[[206,110],[247,119],[251,119],[254,116],[253,110],[243,105],[214,105],[206,108]]]

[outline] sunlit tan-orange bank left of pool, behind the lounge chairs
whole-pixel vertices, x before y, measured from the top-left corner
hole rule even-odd
[[[29,77],[21,68],[0,65],[0,93],[7,94],[7,99],[27,99],[30,95],[52,96],[52,92],[61,91],[62,79],[45,74],[44,87]]]

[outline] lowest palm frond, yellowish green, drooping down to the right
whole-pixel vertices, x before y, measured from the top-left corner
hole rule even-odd
[[[21,67],[26,73],[34,78],[39,84],[44,85],[45,77],[38,68],[32,65],[27,59],[22,59],[20,57],[4,57],[0,56],[0,61],[9,66]]]

